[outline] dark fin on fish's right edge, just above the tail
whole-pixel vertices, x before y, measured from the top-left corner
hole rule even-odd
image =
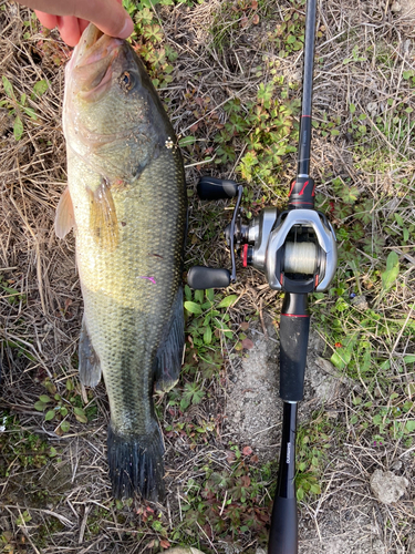
[[[157,351],[155,372],[155,390],[157,392],[170,390],[178,381],[180,373],[183,348],[185,345],[185,315],[181,286],[177,290],[167,329],[168,334]]]

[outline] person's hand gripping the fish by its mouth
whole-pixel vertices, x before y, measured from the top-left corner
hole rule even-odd
[[[134,24],[122,0],[19,0],[32,8],[42,25],[58,27],[62,39],[75,47],[89,22],[118,39],[131,35]]]

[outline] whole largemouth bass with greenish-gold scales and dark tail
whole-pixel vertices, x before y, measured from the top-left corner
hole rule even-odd
[[[173,387],[181,365],[183,161],[142,61],[92,24],[65,70],[63,130],[69,186],[55,230],[76,236],[80,379],[94,387],[104,377],[113,495],[160,500],[153,392]]]

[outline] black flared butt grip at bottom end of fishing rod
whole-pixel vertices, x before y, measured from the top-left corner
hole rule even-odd
[[[268,554],[297,553],[297,500],[279,496],[273,501]]]

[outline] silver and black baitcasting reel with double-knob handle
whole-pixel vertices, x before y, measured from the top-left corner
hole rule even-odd
[[[274,290],[297,294],[325,290],[336,268],[335,235],[324,214],[313,209],[313,202],[301,198],[308,186],[312,187],[310,199],[313,201],[312,179],[308,177],[301,182],[298,178],[291,184],[289,209],[278,214],[277,208],[264,208],[249,225],[243,225],[239,208],[242,185],[234,181],[201,177],[197,185],[200,199],[237,196],[232,220],[225,229],[231,271],[194,266],[187,275],[189,286],[194,289],[225,288],[235,283],[235,253],[238,250],[243,267],[252,265],[262,271]],[[295,197],[300,201],[295,202]],[[311,204],[310,207],[307,207],[308,204]]]

